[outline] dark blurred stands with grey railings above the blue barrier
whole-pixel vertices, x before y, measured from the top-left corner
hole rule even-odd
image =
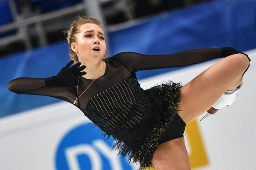
[[[74,17],[100,18],[104,27],[136,22],[136,19],[207,0],[0,0],[0,56],[65,40]]]

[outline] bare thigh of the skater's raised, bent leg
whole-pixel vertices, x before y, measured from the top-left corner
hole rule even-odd
[[[249,61],[243,54],[223,58],[181,88],[179,112],[187,124],[211,108],[243,75]]]

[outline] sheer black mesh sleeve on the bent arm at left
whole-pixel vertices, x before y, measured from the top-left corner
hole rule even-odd
[[[55,97],[64,101],[71,102],[73,99],[71,88],[47,88],[45,78],[16,78],[9,82],[8,89],[18,94],[35,94]]]

